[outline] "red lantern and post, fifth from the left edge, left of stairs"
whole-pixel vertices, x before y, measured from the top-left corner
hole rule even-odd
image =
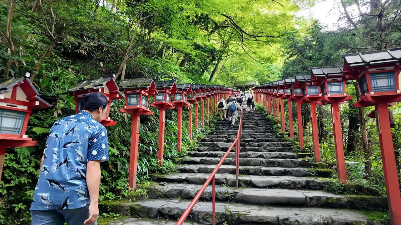
[[[180,152],[182,144],[182,107],[190,106],[186,101],[186,97],[188,93],[191,93],[191,84],[177,84],[177,92],[174,94],[173,105],[178,108],[177,151]]]

